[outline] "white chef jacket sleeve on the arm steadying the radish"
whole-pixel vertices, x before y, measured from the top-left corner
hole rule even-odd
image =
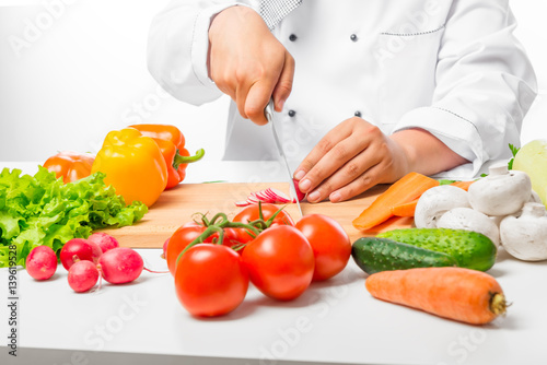
[[[394,132],[422,128],[473,163],[504,158],[520,145],[522,121],[537,94],[508,0],[455,0],[438,54],[431,106],[405,114]],[[472,175],[472,176],[473,176]]]

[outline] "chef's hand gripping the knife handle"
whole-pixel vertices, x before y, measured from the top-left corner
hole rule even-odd
[[[281,111],[291,93],[294,59],[258,13],[231,7],[209,27],[209,76],[232,97],[242,117],[265,125],[270,97]]]

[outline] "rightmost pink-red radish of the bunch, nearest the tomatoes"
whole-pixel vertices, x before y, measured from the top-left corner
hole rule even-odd
[[[117,247],[101,256],[98,267],[104,280],[110,284],[125,284],[139,278],[144,262],[136,250]]]

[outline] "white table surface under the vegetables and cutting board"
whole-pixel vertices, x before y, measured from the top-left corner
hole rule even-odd
[[[284,179],[276,163],[199,165],[188,168],[188,182]],[[30,174],[35,166],[0,164]],[[166,270],[159,249],[139,252],[147,267]],[[0,363],[547,364],[547,262],[519,261],[500,250],[489,273],[512,305],[507,317],[476,327],[372,298],[352,260],[293,302],[279,303],[251,287],[236,310],[207,320],[181,306],[168,273],[143,272],[131,284],[77,294],[62,266],[46,282],[19,270],[13,358],[5,348],[8,270],[1,269]]]

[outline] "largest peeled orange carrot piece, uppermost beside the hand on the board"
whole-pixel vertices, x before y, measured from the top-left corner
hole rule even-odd
[[[409,173],[381,193],[357,219],[353,226],[366,231],[393,216],[392,208],[419,198],[439,181],[418,173]]]

